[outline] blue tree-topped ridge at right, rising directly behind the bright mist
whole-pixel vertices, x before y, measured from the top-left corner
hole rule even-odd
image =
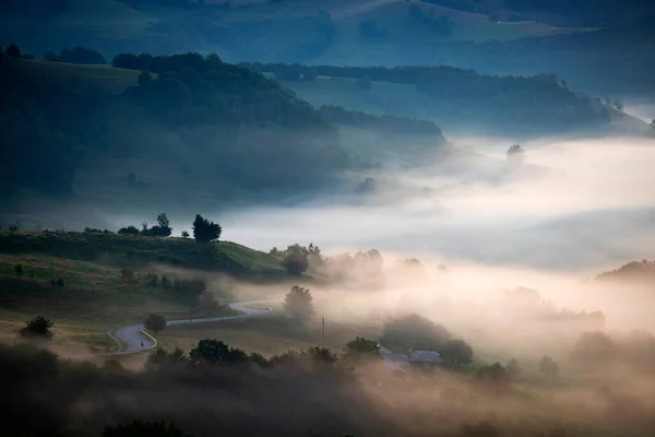
[[[604,129],[610,121],[611,108],[570,90],[553,74],[497,76],[452,67],[241,66],[273,73],[315,105],[360,110],[377,106],[388,114],[429,118],[449,129],[562,133]]]

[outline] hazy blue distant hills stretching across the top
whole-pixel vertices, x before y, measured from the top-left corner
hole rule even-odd
[[[642,0],[602,5],[588,0],[575,5],[538,0],[69,0],[47,20],[43,12],[3,14],[0,40],[36,55],[84,42],[108,59],[123,51],[199,51],[218,52],[231,62],[448,64],[503,75],[556,73],[576,90],[616,98],[653,93],[653,8]]]

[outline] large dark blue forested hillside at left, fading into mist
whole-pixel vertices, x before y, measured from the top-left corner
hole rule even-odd
[[[350,166],[338,126],[444,142],[429,121],[315,109],[216,55],[122,54],[112,68],[25,60],[12,50],[0,58],[0,182],[8,198],[24,190],[72,196],[80,168],[94,176],[124,168],[120,185],[135,189],[145,182],[134,172],[145,167],[158,169],[150,185],[168,192],[202,187],[224,200],[297,193]]]

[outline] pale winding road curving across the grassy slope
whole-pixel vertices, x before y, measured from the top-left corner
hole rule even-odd
[[[248,308],[249,305],[267,304],[271,300],[252,300],[252,302],[236,302],[229,304],[229,307],[239,315],[236,316],[216,316],[216,317],[202,317],[198,319],[181,319],[181,320],[168,320],[167,327],[177,324],[188,323],[205,323],[210,321],[221,320],[233,320],[233,319],[245,319],[248,317],[261,316],[271,311],[271,308]],[[147,332],[145,332],[143,323],[130,324],[127,327],[118,328],[116,330],[107,332],[107,334],[118,345],[117,351],[106,352],[102,355],[120,355],[120,354],[132,354],[134,352],[146,351],[157,345],[157,341]]]

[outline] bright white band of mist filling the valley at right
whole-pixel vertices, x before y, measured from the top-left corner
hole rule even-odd
[[[508,142],[419,169],[370,173],[369,202],[320,200],[224,215],[225,238],[262,250],[290,240],[324,250],[374,247],[413,257],[582,271],[647,258],[652,247],[654,141]],[[464,154],[468,156],[463,156]]]

